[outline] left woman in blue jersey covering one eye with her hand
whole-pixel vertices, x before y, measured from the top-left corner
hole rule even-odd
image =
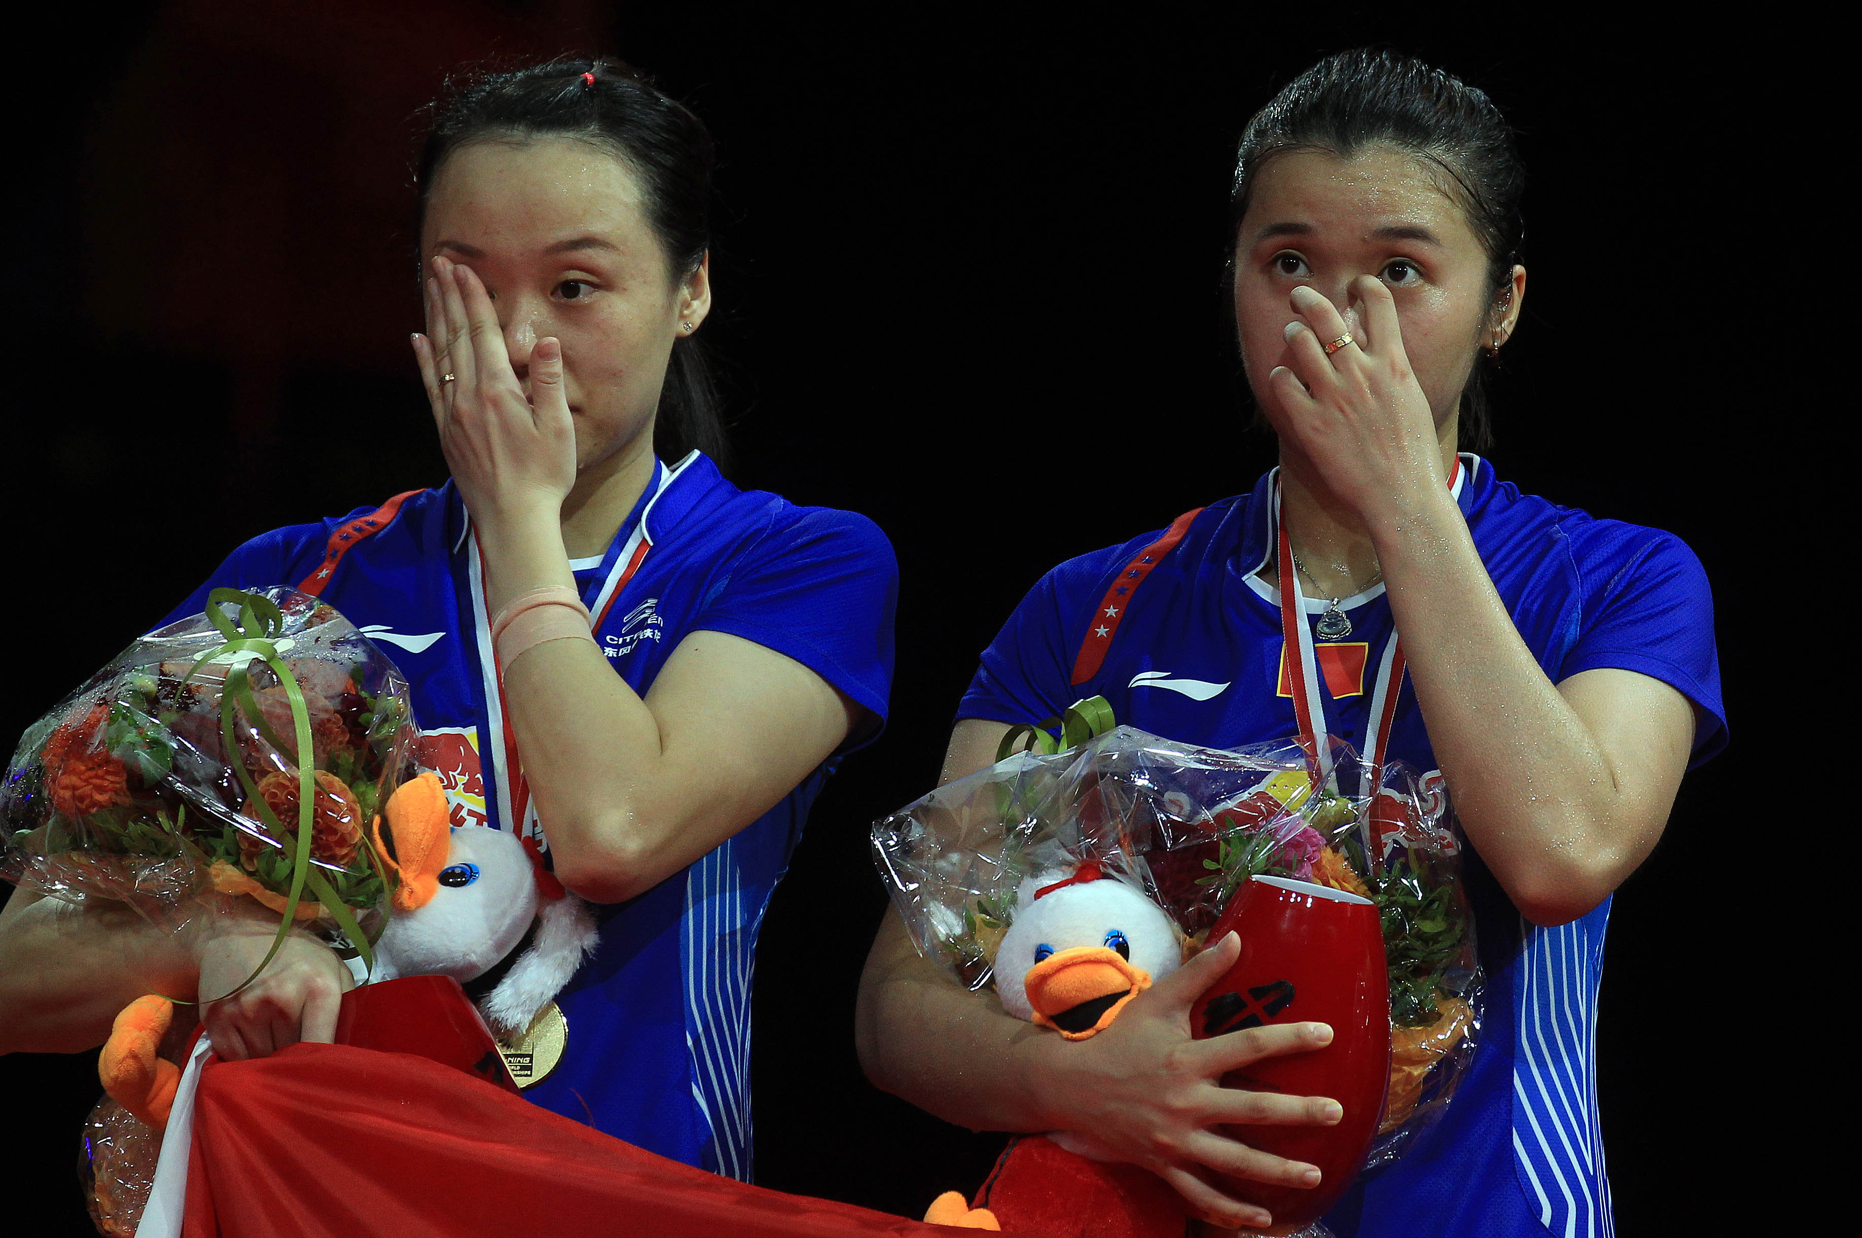
[[[527,1091],[749,1178],[763,908],[838,758],[879,730],[896,564],[871,521],[726,482],[696,354],[711,141],[614,61],[466,82],[419,171],[413,337],[452,480],[242,545],[220,585],[320,594],[384,644],[454,823],[534,836],[600,910]],[[97,1044],[151,989],[231,990],[261,918],[197,942],[15,897],[0,1050]],[[328,1041],[348,983],[292,938],[205,1005],[223,1056]]]

